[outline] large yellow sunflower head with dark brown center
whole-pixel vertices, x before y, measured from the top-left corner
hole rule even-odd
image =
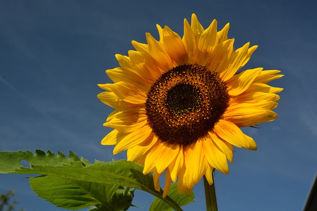
[[[159,41],[146,33],[147,44],[132,41],[136,50],[116,55],[120,67],[106,70],[113,84],[98,95],[114,108],[104,126],[114,128],[102,140],[127,150],[127,159],[159,176],[165,172],[166,196],[177,180],[180,194],[190,194],[205,175],[212,184],[214,169],[228,173],[233,146],[256,150],[253,138],[239,127],[277,118],[282,88],[267,85],[281,78],[278,70],[240,69],[257,46],[246,43],[234,50],[229,24],[217,31],[217,22],[204,29],[195,14],[184,20],[184,36],[165,26]]]

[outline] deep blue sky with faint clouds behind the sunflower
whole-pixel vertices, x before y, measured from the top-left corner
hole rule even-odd
[[[236,148],[227,175],[215,172],[220,211],[298,211],[317,169],[317,3],[303,1],[83,1],[0,0],[0,151],[68,154],[91,162],[125,159],[101,139],[111,109],[97,84],[118,66],[131,40],[158,38],[156,24],[183,35],[183,20],[196,13],[206,28],[230,22],[235,48],[259,45],[246,68],[278,69],[285,76],[275,111],[279,118],[244,128],[257,151]],[[38,198],[26,175],[0,175],[0,193],[16,192],[17,208],[59,211]],[[205,210],[203,184],[184,210]],[[134,204],[148,210],[152,196],[136,192]],[[139,211],[133,208],[131,210]]]

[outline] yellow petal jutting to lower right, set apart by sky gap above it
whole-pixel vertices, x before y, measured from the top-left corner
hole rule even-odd
[[[237,147],[254,149],[256,146],[251,137],[246,136],[239,127],[229,121],[219,120],[214,125],[214,131],[220,138]]]

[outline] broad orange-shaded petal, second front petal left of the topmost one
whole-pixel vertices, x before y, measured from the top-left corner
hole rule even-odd
[[[179,35],[167,26],[163,29],[163,44],[168,55],[177,63],[177,65],[185,64],[188,55]]]

